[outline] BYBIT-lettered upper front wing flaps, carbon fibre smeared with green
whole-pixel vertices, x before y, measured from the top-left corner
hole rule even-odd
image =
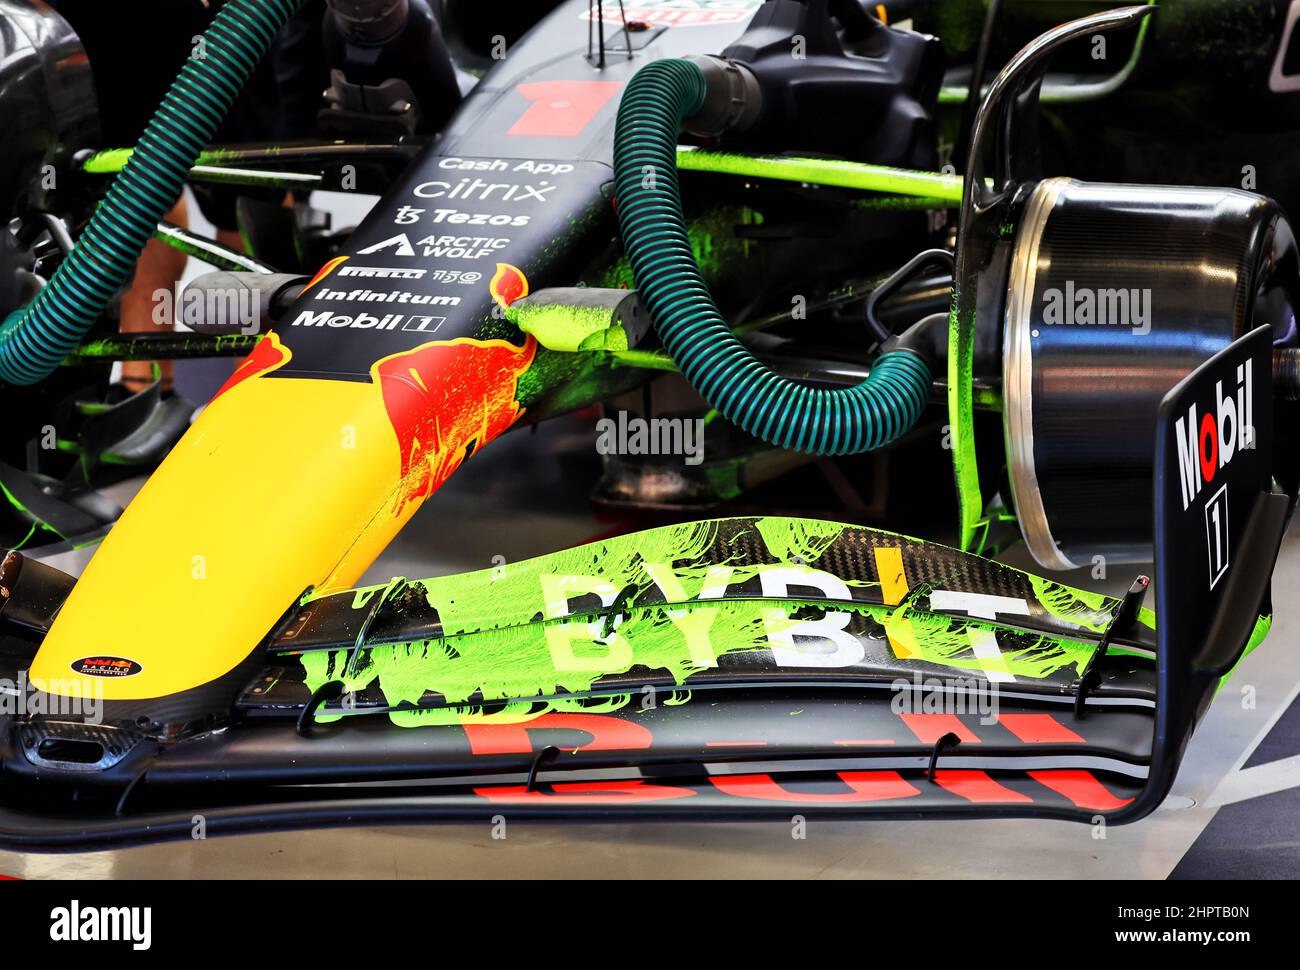
[[[369,615],[393,589],[312,605]],[[419,636],[283,651],[302,654],[312,689],[377,688],[402,724],[621,706],[645,684],[719,677],[939,674],[1061,692],[1118,605],[941,545],[776,516],[618,536],[408,592],[430,618]]]

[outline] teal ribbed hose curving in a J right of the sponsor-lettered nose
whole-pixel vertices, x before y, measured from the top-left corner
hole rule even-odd
[[[779,447],[850,455],[883,447],[920,419],[930,364],[881,354],[853,387],[809,387],[774,373],[727,326],[699,272],[677,185],[677,133],[705,103],[694,62],[653,61],[628,83],[614,142],[619,225],[641,299],[664,348],[727,420]]]

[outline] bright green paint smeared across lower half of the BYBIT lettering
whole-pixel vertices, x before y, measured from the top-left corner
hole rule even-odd
[[[347,690],[358,690],[377,680],[385,700],[394,706],[413,706],[426,692],[442,696],[446,706],[390,711],[393,722],[403,727],[465,719],[517,722],[549,711],[599,713],[624,707],[633,700],[632,693],[616,690],[602,697],[598,707],[578,696],[592,692],[599,679],[633,668],[644,668],[646,680],[667,677],[676,687],[688,687],[692,675],[716,667],[727,655],[764,650],[770,635],[798,625],[796,615],[807,606],[793,599],[734,599],[671,610],[632,609],[610,636],[603,636],[599,623],[552,620],[380,646],[365,653],[352,676],[346,674],[346,651],[309,653],[302,659],[312,689],[342,680]],[[907,605],[846,605],[836,606],[836,611],[864,618],[884,629],[907,623],[919,648],[916,661],[961,674],[992,670],[974,655],[972,632],[1006,629],[996,623],[941,616]],[[688,638],[685,628],[701,636]],[[550,637],[562,629],[573,655],[590,662],[589,668],[556,667]],[[628,648],[624,659],[611,663],[624,642]],[[1082,674],[1095,649],[1096,644],[1089,641],[1032,637],[1024,646],[1005,650],[998,668],[1028,680],[1041,680],[1066,667]],[[485,711],[485,702],[491,705],[490,713]],[[343,715],[321,715],[318,720]]]

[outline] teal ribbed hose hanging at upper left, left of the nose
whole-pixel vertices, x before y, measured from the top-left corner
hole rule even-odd
[[[228,0],[96,208],[72,255],[0,326],[0,381],[49,376],[131,278],[217,125],[304,0]]]

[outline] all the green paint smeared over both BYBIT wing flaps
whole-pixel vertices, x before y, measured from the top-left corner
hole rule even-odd
[[[998,670],[1018,679],[1043,680],[1066,668],[1074,671],[1071,676],[1082,674],[1096,650],[1096,640],[1087,636],[1035,633],[1000,620],[936,614],[918,605],[916,596],[928,596],[928,584],[920,584],[913,590],[916,596],[898,605],[793,597],[699,598],[705,589],[718,596],[722,586],[736,586],[774,568],[831,572],[845,585],[879,588],[878,581],[845,576],[842,567],[836,568],[842,555],[823,563],[828,550],[853,527],[759,518],[751,520],[751,529],[728,531],[736,521],[671,525],[541,559],[426,580],[421,585],[442,623],[439,637],[367,648],[356,655],[351,674],[351,650],[303,654],[307,684],[315,690],[326,681],[342,680],[347,690],[360,690],[377,683],[390,706],[413,706],[428,693],[442,697],[442,706],[433,709],[390,711],[394,723],[407,726],[465,718],[520,720],[576,705],[593,710],[589,701],[576,696],[598,688],[603,677],[644,670],[646,680],[667,679],[673,687],[689,687],[693,674],[716,667],[723,657],[770,648],[774,633],[806,622],[810,610],[815,618],[849,614],[859,631],[876,631],[870,636],[881,645],[896,635],[905,637],[913,650],[907,670],[919,663],[918,670],[967,675]],[[889,533],[872,534],[890,546],[893,538],[900,546],[914,542]],[[930,547],[936,557],[952,555],[950,550]],[[978,562],[972,559],[971,568],[978,568]],[[954,575],[958,581],[966,567],[953,568],[959,571]],[[1100,631],[1114,609],[1115,601],[1098,593],[1032,576],[1030,581],[1043,609],[1080,633]],[[956,588],[963,588],[962,583]],[[356,590],[352,609],[369,610],[374,597],[386,589]],[[879,598],[879,593],[875,596]],[[599,615],[602,609],[604,615]],[[616,611],[618,623],[610,611]],[[996,636],[1000,658],[987,662],[976,657],[975,633]],[[604,693],[615,696],[601,703],[610,709],[625,705],[630,697],[619,693],[621,689],[604,688]]]

